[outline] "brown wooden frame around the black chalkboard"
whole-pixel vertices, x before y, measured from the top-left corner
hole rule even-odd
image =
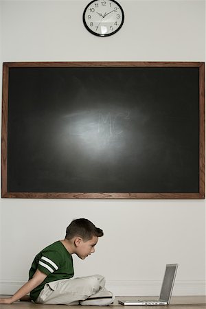
[[[199,192],[198,193],[62,193],[8,192],[8,91],[12,67],[198,67],[199,69]],[[2,198],[205,198],[205,62],[4,62],[1,130]]]

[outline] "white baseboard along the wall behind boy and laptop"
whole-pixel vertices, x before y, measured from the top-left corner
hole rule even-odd
[[[2,280],[0,282],[0,295],[12,295],[25,284],[23,280]],[[161,289],[159,281],[108,281],[106,288],[117,296],[158,296]],[[190,296],[206,295],[206,282],[176,281],[172,295]]]

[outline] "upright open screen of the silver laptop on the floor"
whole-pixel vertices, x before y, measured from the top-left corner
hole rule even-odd
[[[170,302],[178,264],[167,264],[159,299]]]

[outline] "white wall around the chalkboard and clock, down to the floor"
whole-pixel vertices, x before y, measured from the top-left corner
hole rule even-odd
[[[0,61],[205,61],[205,1],[119,0],[122,29],[98,38],[82,24],[86,0],[0,1]],[[0,72],[1,73],[1,72]],[[1,199],[0,294],[27,280],[34,255],[73,218],[104,229],[76,275],[102,273],[116,295],[158,295],[178,262],[174,295],[205,294],[205,201]]]

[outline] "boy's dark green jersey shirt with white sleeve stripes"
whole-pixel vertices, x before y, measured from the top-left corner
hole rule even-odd
[[[54,242],[54,244],[50,244],[50,246],[36,255],[30,268],[30,279],[33,277],[36,269],[45,273],[47,277],[39,286],[31,291],[30,297],[33,301],[36,301],[41,290],[43,290],[45,284],[48,282],[73,277],[72,256],[59,240]]]

